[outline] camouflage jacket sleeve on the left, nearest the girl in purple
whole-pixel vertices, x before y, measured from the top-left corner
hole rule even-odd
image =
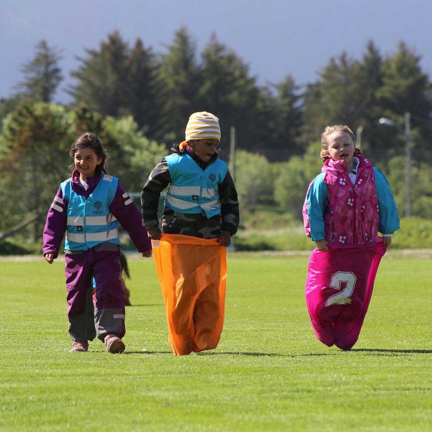
[[[158,163],[141,192],[141,213],[143,216],[143,226],[146,229],[159,225],[158,206],[161,192],[171,181],[168,165],[165,160]]]

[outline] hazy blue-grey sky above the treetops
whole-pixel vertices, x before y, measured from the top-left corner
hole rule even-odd
[[[71,102],[76,56],[98,49],[107,35],[137,38],[164,53],[175,32],[186,27],[199,54],[212,33],[248,64],[258,84],[280,83],[288,74],[297,85],[318,79],[330,57],[343,51],[361,59],[369,40],[383,55],[399,41],[421,56],[432,79],[432,1],[429,0],[0,0],[0,97],[22,81],[22,64],[45,39],[62,50],[64,80],[54,102]]]

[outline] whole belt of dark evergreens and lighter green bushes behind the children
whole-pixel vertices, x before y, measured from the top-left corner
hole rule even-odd
[[[364,154],[388,176],[403,208],[405,138],[378,119],[403,125],[408,111],[412,214],[432,216],[432,84],[420,56],[403,42],[391,55],[381,54],[372,41],[361,59],[342,52],[305,86],[289,74],[259,86],[244,60],[216,35],[198,53],[181,28],[166,51],[156,53],[139,38],[130,45],[113,32],[77,57],[79,65],[70,72],[75,83],[66,89],[73,102],[66,106],[51,103],[63,79],[60,59],[60,50],[40,41],[34,58],[22,66],[16,93],[0,100],[0,231],[27,213],[46,210],[79,134],[100,135],[111,153],[110,171],[137,191],[172,143],[184,139],[195,111],[219,117],[222,159],[228,158],[229,128],[235,126],[236,184],[246,210],[272,203],[295,216],[320,170],[317,142],[328,124],[362,131],[357,139]],[[35,240],[38,233],[37,226]]]

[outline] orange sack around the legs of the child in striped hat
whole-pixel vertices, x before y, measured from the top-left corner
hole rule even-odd
[[[180,234],[162,234],[152,248],[174,354],[216,348],[225,313],[226,248],[216,239]]]

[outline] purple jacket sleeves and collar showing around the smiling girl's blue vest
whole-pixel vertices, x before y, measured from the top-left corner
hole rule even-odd
[[[98,185],[101,177],[102,175],[87,177],[86,181],[89,186],[86,190],[79,181],[79,172],[75,170],[72,173],[72,189],[76,194],[88,198]],[[114,200],[110,206],[111,213],[116,217],[123,229],[127,231],[137,251],[149,251],[152,245],[147,235],[147,230],[142,225],[140,210],[138,210],[137,205],[133,202],[131,203],[132,205],[125,205],[127,200],[130,200],[130,197],[119,182]],[[57,208],[60,207],[63,211],[56,210],[53,205]],[[54,254],[54,258],[57,258],[60,244],[66,232],[66,209],[68,206],[68,201],[63,196],[60,187],[53,200],[53,205],[48,211],[47,222],[45,223],[43,252],[44,256],[46,254]]]

